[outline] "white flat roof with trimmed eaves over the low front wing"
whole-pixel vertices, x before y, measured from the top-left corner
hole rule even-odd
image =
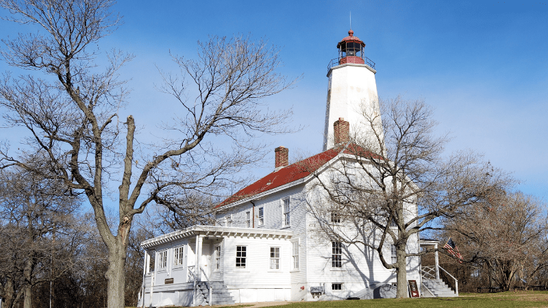
[[[201,226],[196,225],[183,230],[173,231],[157,238],[142,241],[143,248],[150,248],[159,244],[173,242],[191,236],[205,235],[214,238],[222,238],[234,236],[240,238],[291,238],[292,231],[273,230],[273,229],[255,229],[255,228],[232,228],[232,227],[217,227],[217,226]]]

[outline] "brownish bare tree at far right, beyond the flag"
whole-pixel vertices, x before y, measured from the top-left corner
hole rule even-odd
[[[521,192],[497,192],[474,211],[446,220],[445,233],[463,243],[462,253],[490,283],[503,290],[516,281],[528,287],[543,281],[538,275],[548,268],[544,209]]]

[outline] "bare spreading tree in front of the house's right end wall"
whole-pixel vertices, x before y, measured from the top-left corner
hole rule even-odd
[[[405,298],[408,257],[427,253],[409,247],[409,240],[434,228],[436,218],[471,209],[508,179],[473,153],[443,157],[448,138],[434,136],[436,122],[424,101],[379,103],[380,110],[362,110],[371,133],[338,144],[336,151],[345,153],[339,164],[318,170],[308,161],[302,168],[316,177],[310,205],[316,234],[376,251],[385,268],[395,269],[397,297]],[[386,257],[390,244],[395,259]]]

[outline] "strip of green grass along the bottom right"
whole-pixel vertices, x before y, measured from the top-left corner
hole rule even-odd
[[[275,306],[274,306],[275,307]],[[276,308],[358,308],[358,307],[548,307],[548,291],[501,292],[495,294],[460,294],[456,298],[405,298],[373,300],[335,300],[292,303]]]

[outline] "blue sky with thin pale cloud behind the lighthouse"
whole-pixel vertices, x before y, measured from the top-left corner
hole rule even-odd
[[[153,4],[152,4],[153,3]],[[269,98],[293,107],[298,133],[268,137],[295,153],[318,153],[323,142],[327,64],[336,43],[354,35],[377,69],[381,98],[423,97],[435,107],[448,151],[473,149],[513,172],[519,189],[548,200],[548,4],[533,1],[119,1],[124,24],[101,50],[136,55],[123,70],[134,89],[127,114],[147,133],[173,112],[154,84],[156,66],[173,67],[169,51],[193,57],[208,35],[250,33],[282,47],[280,72],[302,79]],[[0,21],[0,37],[24,28]],[[0,71],[9,68],[0,62]],[[0,138],[12,130],[0,129]],[[273,151],[258,177],[273,170]]]

